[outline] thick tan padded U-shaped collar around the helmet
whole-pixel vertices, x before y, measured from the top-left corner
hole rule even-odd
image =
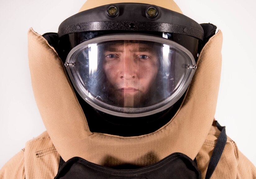
[[[216,109],[221,72],[222,32],[206,43],[186,97],[175,116],[159,130],[120,137],[92,133],[61,59],[43,36],[28,32],[29,68],[34,96],[47,132],[66,161],[74,156],[105,166],[148,165],[174,152],[194,159]]]

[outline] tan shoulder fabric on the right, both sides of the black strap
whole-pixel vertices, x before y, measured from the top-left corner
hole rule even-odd
[[[209,160],[212,156],[219,134],[220,131],[217,127],[212,126],[202,148],[196,156],[197,166],[201,171],[202,178],[205,178]],[[227,138],[227,143],[219,163],[211,177],[211,179],[219,178],[256,178],[256,168],[240,151],[238,151],[236,143],[229,137]]]

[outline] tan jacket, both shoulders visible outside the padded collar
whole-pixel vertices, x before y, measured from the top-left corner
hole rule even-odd
[[[209,159],[219,134],[220,131],[217,127],[211,126],[210,132],[196,156],[197,165],[202,173],[202,178],[205,178]],[[37,138],[26,143],[25,155],[24,150],[20,151],[0,170],[0,178],[25,178],[26,174],[27,179],[52,179],[57,174],[59,160],[60,155],[56,152],[55,147],[53,147],[47,132],[44,132]],[[211,179],[220,178],[256,179],[256,169],[254,165],[238,151],[236,144],[230,138],[227,139],[221,159],[211,177]]]

